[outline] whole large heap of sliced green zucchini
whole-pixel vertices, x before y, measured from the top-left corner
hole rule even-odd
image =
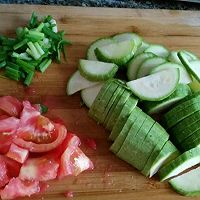
[[[196,55],[135,33],[94,41],[67,84],[67,94],[81,91],[89,116],[111,132],[116,156],[185,196],[200,195],[199,90]]]

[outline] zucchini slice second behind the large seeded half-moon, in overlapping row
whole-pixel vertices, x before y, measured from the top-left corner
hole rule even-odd
[[[150,74],[151,70],[156,66],[159,66],[167,62],[165,58],[162,57],[153,57],[146,59],[139,67],[137,71],[137,79],[142,78]]]

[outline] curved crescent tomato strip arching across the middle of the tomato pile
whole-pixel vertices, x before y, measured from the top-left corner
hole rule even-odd
[[[56,135],[56,139],[51,143],[35,143],[32,141],[26,141],[22,138],[14,138],[13,142],[20,147],[28,149],[30,152],[47,152],[58,147],[65,139],[67,135],[67,129],[63,125],[56,124],[55,129],[49,133]]]

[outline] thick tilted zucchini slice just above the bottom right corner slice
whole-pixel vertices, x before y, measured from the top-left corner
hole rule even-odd
[[[200,163],[200,148],[193,148],[184,152],[159,171],[160,180],[173,178],[185,170]]]

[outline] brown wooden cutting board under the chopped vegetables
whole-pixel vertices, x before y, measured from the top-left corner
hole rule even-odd
[[[160,183],[157,177],[145,178],[109,152],[108,133],[88,117],[88,110],[80,104],[80,95],[68,97],[65,88],[88,45],[99,37],[118,32],[133,31],[148,42],[164,44],[171,50],[191,50],[200,56],[200,12],[0,5],[0,34],[14,35],[15,28],[25,25],[32,11],[54,16],[59,29],[66,31],[66,37],[73,42],[68,48],[68,60],[61,65],[52,64],[43,75],[38,73],[28,90],[16,82],[0,79],[0,95],[46,103],[50,114],[62,118],[68,130],[83,139],[94,138],[97,150],[82,146],[94,162],[92,172],[52,181],[44,195],[31,199],[61,200],[66,198],[63,195],[66,191],[73,192],[74,200],[185,199],[167,183]]]

